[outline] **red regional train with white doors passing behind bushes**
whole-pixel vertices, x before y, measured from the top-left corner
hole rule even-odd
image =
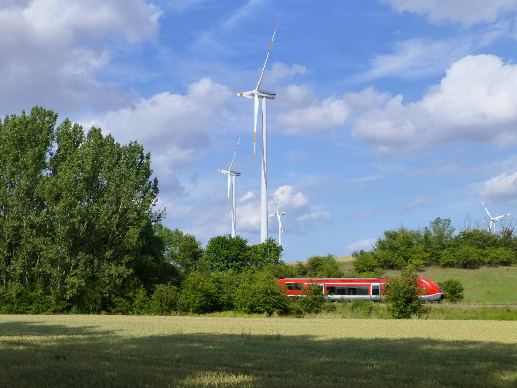
[[[438,285],[429,279],[418,278],[418,288],[424,301],[437,302],[444,299],[445,294]],[[388,281],[385,278],[368,279],[279,279],[288,296],[302,296],[305,288],[311,283],[317,284],[323,290],[325,297],[331,301],[341,299],[365,299],[379,301],[382,299],[383,285]]]

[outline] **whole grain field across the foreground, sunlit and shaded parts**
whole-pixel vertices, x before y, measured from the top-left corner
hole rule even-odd
[[[0,316],[0,385],[515,387],[517,322]]]

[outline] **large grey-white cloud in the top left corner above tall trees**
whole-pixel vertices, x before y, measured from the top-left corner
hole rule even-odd
[[[0,9],[0,106],[13,113],[31,105],[54,109],[114,106],[126,94],[99,82],[109,63],[106,38],[154,40],[161,11],[144,0],[34,0]]]

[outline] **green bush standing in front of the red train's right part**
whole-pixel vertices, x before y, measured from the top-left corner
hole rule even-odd
[[[417,278],[414,268],[407,268],[400,278],[389,279],[383,286],[383,295],[392,318],[407,319],[425,313]]]

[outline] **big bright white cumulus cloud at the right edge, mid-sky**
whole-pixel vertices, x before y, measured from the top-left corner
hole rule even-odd
[[[459,140],[497,141],[517,124],[516,87],[517,65],[495,55],[467,55],[421,100],[404,104],[398,95],[361,114],[352,135],[384,153]]]

